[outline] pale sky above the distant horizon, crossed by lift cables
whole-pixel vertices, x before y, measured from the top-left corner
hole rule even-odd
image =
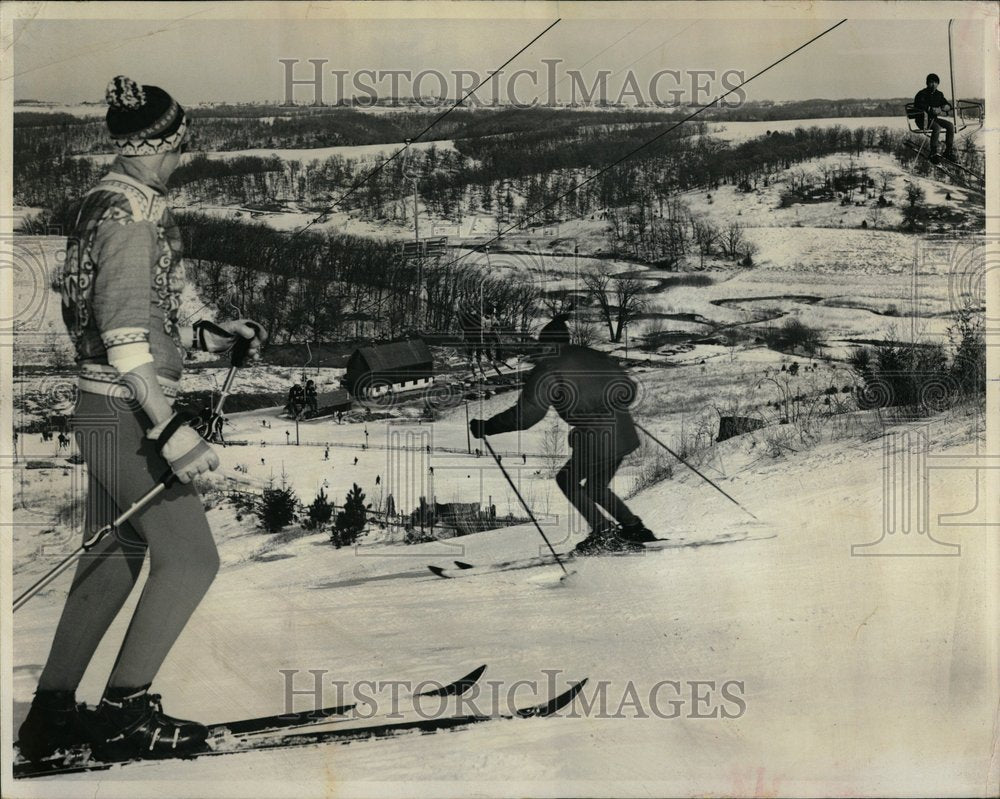
[[[636,6],[629,6],[634,9]],[[286,66],[298,59],[293,76],[313,77],[308,59],[325,59],[322,97],[363,95],[354,81],[362,70],[436,70],[446,74],[445,94],[454,97],[454,70],[480,77],[503,64],[553,20],[533,19],[353,19],[353,20],[205,20],[184,8],[170,20],[19,20],[13,46],[14,99],[59,103],[100,101],[111,77],[125,74],[140,83],[162,86],[183,103],[281,101],[286,96]],[[617,99],[631,72],[634,88],[647,102],[692,98],[692,81],[703,88],[702,101],[739,82],[727,70],[749,77],[813,36],[834,19],[644,19],[602,21],[564,19],[519,55],[501,75],[496,92],[509,100],[511,74],[533,70],[513,84],[517,99],[546,100],[549,74],[556,99],[572,99],[574,83],[587,89],[599,70],[612,73],[608,96]],[[982,97],[984,65],[981,22],[959,20],[953,36],[956,93]],[[543,59],[559,59],[547,65]],[[345,73],[339,91],[332,70]],[[581,81],[567,75],[576,70]],[[674,72],[680,71],[679,77]],[[716,70],[697,77],[691,70]],[[948,84],[948,26],[938,20],[848,20],[800,53],[752,81],[751,100],[908,97],[923,87],[928,72]],[[653,77],[659,77],[653,81]],[[391,79],[366,76],[381,95],[391,94]],[[399,95],[413,94],[401,77]],[[471,86],[471,78],[466,86]],[[651,85],[652,84],[652,85]],[[422,93],[440,94],[441,84],[427,76]],[[296,102],[314,99],[311,87],[294,89]],[[490,84],[477,93],[490,97]],[[578,95],[578,98],[580,95]],[[630,96],[634,100],[634,95]],[[625,101],[629,102],[630,97]]]

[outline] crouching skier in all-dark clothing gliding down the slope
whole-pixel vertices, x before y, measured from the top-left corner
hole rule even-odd
[[[555,351],[538,360],[516,405],[485,421],[469,423],[472,435],[483,438],[527,430],[545,417],[550,406],[555,408],[570,425],[573,452],[556,475],[556,484],[590,525],[590,535],[577,544],[576,551],[638,549],[639,544],[655,540],[610,488],[625,456],[639,446],[628,412],[635,384],[608,356],[570,344],[565,317],[549,322],[538,340],[553,345]]]

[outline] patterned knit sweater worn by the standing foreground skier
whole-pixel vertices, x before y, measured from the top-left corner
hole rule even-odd
[[[184,359],[180,232],[163,192],[138,179],[130,166],[119,158],[84,196],[55,287],[83,369],[81,388],[94,390],[95,381],[119,384],[107,348],[147,341],[170,396]]]

